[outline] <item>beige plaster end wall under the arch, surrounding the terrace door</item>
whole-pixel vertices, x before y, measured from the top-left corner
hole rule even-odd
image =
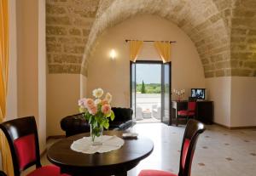
[[[125,39],[177,41],[172,44],[172,88],[184,88],[188,97],[190,88],[205,87],[194,43],[171,22],[148,14],[125,20],[104,32],[90,58],[87,95],[91,96],[92,89],[101,87],[113,94],[113,106],[130,106],[129,47]],[[109,59],[112,48],[117,51],[116,60]],[[160,60],[153,43],[144,43],[138,60]]]

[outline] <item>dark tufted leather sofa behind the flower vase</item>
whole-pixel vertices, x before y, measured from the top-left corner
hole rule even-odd
[[[132,121],[131,108],[112,108],[115,118],[109,121],[109,130],[125,130],[131,128],[135,122]],[[90,132],[90,124],[84,120],[83,114],[79,113],[66,116],[61,119],[61,129],[66,132],[66,137],[77,133]]]

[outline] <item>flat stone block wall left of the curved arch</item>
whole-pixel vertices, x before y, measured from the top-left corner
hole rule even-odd
[[[99,0],[46,0],[49,73],[80,73]]]

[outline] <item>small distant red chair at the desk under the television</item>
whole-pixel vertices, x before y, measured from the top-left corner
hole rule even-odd
[[[187,118],[187,122],[189,120],[189,116],[193,116],[195,118],[195,110],[196,110],[196,101],[189,101],[187,110],[177,111],[176,126],[178,124],[178,118],[180,117]]]

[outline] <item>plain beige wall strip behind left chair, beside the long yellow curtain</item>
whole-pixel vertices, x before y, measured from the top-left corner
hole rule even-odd
[[[18,115],[38,122],[38,1],[17,1]]]

